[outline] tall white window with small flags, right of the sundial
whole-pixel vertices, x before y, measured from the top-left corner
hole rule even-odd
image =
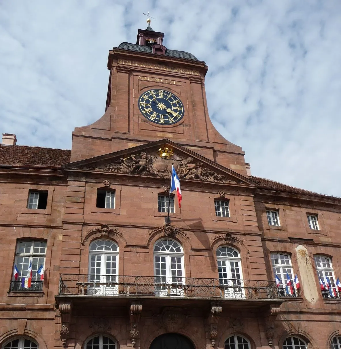
[[[335,290],[335,276],[332,261],[326,256],[314,256],[315,268],[319,279],[323,281],[324,290],[321,290],[323,298],[338,298],[339,292]],[[320,281],[319,280],[319,281]],[[320,281],[321,283],[321,281]]]

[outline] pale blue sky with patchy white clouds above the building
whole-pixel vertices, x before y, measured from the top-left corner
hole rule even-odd
[[[254,176],[341,196],[339,0],[0,0],[0,133],[71,149],[105,111],[108,51],[148,11],[209,66],[210,118]]]

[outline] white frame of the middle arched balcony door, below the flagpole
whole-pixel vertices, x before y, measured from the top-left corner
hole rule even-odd
[[[181,252],[174,251],[155,251],[156,246],[161,241],[172,241],[180,247]],[[170,249],[170,248],[169,248]],[[184,253],[183,248],[174,239],[159,239],[154,244],[154,278],[155,278],[155,292],[157,296],[183,296],[184,291],[182,285],[185,284],[185,268],[184,268]],[[160,258],[160,262],[157,262],[157,258]],[[161,261],[161,258],[165,258],[165,262]],[[172,258],[180,258],[181,261],[181,276],[172,276],[172,264],[174,260]],[[156,263],[160,263],[160,273],[161,273],[161,263],[166,263],[166,275],[157,275]],[[175,261],[177,263],[177,261]],[[175,269],[179,270],[179,269]],[[175,280],[174,280],[175,279]]]

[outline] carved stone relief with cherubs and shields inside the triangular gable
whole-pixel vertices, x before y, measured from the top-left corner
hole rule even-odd
[[[244,183],[238,178],[217,173],[213,169],[206,167],[203,162],[191,156],[183,157],[173,154],[172,157],[167,159],[158,156],[156,152],[147,154],[142,151],[139,154],[131,154],[128,157],[121,157],[110,163],[89,166],[84,169],[113,173],[143,174],[166,179],[170,178],[172,164],[179,178],[199,179],[216,183]]]

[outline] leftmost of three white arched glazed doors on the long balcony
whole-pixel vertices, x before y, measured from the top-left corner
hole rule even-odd
[[[90,244],[88,294],[117,294],[118,255],[119,248],[113,241],[96,240]]]

